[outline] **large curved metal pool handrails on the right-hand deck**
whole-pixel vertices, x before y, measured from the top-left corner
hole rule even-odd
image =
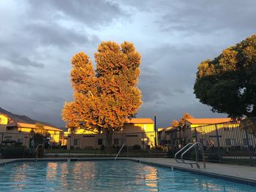
[[[206,169],[206,161],[205,161],[205,155],[204,155],[204,152],[203,152],[203,145],[200,143],[200,142],[195,142],[195,143],[192,143],[192,142],[189,142],[187,145],[185,145],[184,147],[181,148],[181,150],[179,150],[174,158],[175,158],[175,161],[178,163],[178,164],[189,164],[192,168],[193,168],[193,164],[195,164],[197,166],[198,169],[200,169],[200,165],[198,164],[198,154],[197,154],[197,146],[201,147],[201,150],[202,150],[202,154],[203,154],[203,168]],[[189,150],[191,150],[193,147],[195,147],[195,158],[196,158],[196,162],[186,162],[184,161],[184,158],[183,156],[189,152]],[[177,155],[180,154],[181,152],[183,152],[181,154],[181,158],[178,159],[177,158]]]

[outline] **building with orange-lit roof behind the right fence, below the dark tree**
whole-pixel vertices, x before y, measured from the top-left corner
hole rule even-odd
[[[187,119],[186,127],[188,129],[184,129],[183,137],[187,141],[195,140],[196,131],[197,142],[205,146],[243,148],[256,143],[255,137],[246,133],[241,121],[230,118]]]

